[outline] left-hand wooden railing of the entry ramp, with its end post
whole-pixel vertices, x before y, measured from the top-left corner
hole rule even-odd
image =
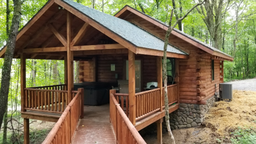
[[[59,121],[54,125],[51,132],[45,138],[43,144],[70,144],[76,131],[76,125],[79,117],[83,116],[81,105],[83,105],[83,89],[74,91],[76,96],[69,103]],[[82,102],[82,103],[81,103]]]

